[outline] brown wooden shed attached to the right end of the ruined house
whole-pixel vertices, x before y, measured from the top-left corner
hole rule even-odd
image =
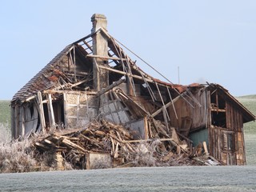
[[[190,93],[198,102],[191,106],[178,99],[174,103],[178,118],[174,108],[169,109],[170,125],[193,140],[194,146],[206,142],[210,154],[226,165],[245,165],[243,124],[254,121],[254,114],[218,84],[194,86]]]

